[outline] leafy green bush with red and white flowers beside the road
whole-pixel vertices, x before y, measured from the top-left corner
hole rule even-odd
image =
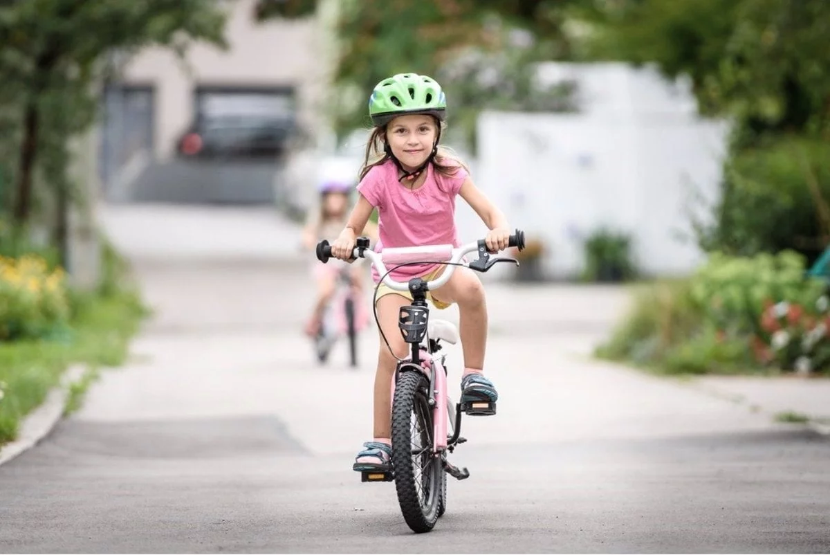
[[[714,253],[690,278],[638,292],[632,312],[597,354],[674,374],[825,371],[825,288],[805,278],[798,253]]]

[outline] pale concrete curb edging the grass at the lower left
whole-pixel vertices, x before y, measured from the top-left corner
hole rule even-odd
[[[46,395],[46,400],[37,409],[32,410],[22,421],[17,440],[0,448],[0,465],[6,464],[28,449],[32,449],[46,435],[49,435],[61,420],[64,410],[66,410],[71,386],[80,382],[87,371],[88,369],[83,365],[73,365],[66,369],[61,379],[61,385],[53,387]]]

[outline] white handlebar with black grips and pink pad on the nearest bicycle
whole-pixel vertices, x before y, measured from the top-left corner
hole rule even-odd
[[[524,249],[525,232],[516,229],[516,233],[510,235],[507,246],[515,247],[519,250]],[[380,253],[375,253],[374,251],[369,250],[369,239],[366,238],[358,238],[357,246],[354,247],[351,259],[369,258],[375,268],[378,268],[378,273],[380,273],[381,276],[385,276],[383,278],[383,282],[395,291],[408,291],[409,285],[408,283],[396,282],[388,276],[388,271],[386,269],[386,265],[383,263],[383,258],[387,258],[388,261],[389,259],[392,259],[392,262],[390,263],[393,264],[405,262],[449,263],[450,268],[442,273],[439,278],[426,282],[427,290],[434,290],[449,281],[452,276],[452,272],[455,270],[457,264],[461,263],[461,259],[464,258],[464,255],[468,253],[475,253],[476,251],[479,253],[479,259],[476,260],[476,263],[471,263],[469,266],[479,272],[486,272],[490,269],[492,264],[498,260],[494,259],[488,262],[490,253],[487,250],[487,245],[484,239],[479,239],[478,241],[474,241],[472,243],[466,243],[466,245],[461,245],[461,247],[458,248],[453,248],[452,245],[427,245],[423,247],[384,248]],[[320,241],[320,243],[317,243],[316,254],[317,259],[320,260],[321,263],[325,264],[329,262],[329,259],[331,258],[331,245],[327,240],[324,239]],[[424,257],[430,256],[433,258],[423,259]],[[508,260],[515,262],[515,260]]]

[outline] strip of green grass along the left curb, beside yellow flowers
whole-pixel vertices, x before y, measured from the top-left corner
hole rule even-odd
[[[67,411],[81,405],[98,369],[120,366],[129,341],[149,312],[125,279],[125,263],[108,245],[96,292],[71,293],[71,325],[48,338],[0,342],[0,446],[17,437],[20,421],[61,382],[66,368],[89,371],[70,390]]]

